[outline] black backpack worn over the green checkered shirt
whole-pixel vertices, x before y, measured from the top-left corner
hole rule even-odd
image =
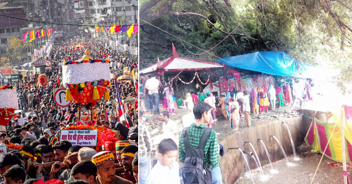
[[[205,128],[197,148],[192,148],[188,139],[188,127],[183,129],[183,143],[186,150],[186,158],[181,168],[184,184],[210,184],[212,182],[211,168],[204,164],[204,148],[208,140],[211,128]]]

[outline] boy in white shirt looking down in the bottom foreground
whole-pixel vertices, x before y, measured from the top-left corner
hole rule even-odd
[[[172,139],[163,139],[158,146],[157,164],[151,170],[147,184],[181,184],[177,145]]]

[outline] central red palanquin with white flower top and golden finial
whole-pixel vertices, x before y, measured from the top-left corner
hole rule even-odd
[[[109,59],[92,59],[89,50],[77,61],[62,63],[63,86],[66,100],[74,100],[79,107],[78,118],[82,125],[96,127],[98,110],[96,102],[110,99],[107,87],[110,86]]]

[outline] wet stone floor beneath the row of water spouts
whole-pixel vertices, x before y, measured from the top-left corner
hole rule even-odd
[[[314,154],[311,157],[302,158],[296,161],[291,156],[289,161],[293,166],[288,166],[285,159],[273,163],[274,170],[277,173],[270,173],[270,164],[263,167],[264,177],[260,176],[259,169],[252,170],[253,182],[255,184],[310,184],[313,179],[316,167],[321,159],[321,154]],[[313,180],[313,184],[343,184],[342,163],[334,165],[331,170],[328,163],[335,163],[327,157],[323,157],[318,171]],[[248,168],[235,182],[235,184],[252,184],[251,175]],[[347,172],[352,173],[351,167],[347,167]]]

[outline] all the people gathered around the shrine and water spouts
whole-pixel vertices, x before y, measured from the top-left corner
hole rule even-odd
[[[244,118],[247,127],[251,127],[252,115],[267,113],[275,108],[289,106],[293,112],[296,102],[300,108],[304,100],[313,100],[314,83],[307,79],[281,82],[282,85],[262,85],[258,89],[232,90],[223,92],[220,97],[203,91],[186,94],[186,98],[174,95],[172,83],[159,81],[155,73],[140,73],[140,180],[139,183],[197,183],[207,181],[212,184],[222,183],[220,156],[224,156],[224,147],[217,142],[212,124],[218,119],[230,121],[234,131],[239,129],[240,119]],[[289,83],[290,82],[290,83]],[[217,85],[214,83],[213,85]],[[276,103],[278,102],[278,103]],[[194,114],[195,120],[189,127],[179,130],[170,116],[175,109],[187,108]],[[265,112],[264,112],[265,111]],[[150,137],[149,129],[143,125],[142,115],[158,115],[162,124],[163,140],[156,148]],[[206,137],[205,140],[202,138]],[[154,154],[153,154],[154,153]],[[152,157],[155,156],[152,162]],[[204,165],[197,166],[204,173],[198,173],[190,160],[197,158]],[[182,168],[177,160],[183,163]],[[193,163],[194,164],[194,163]],[[152,169],[150,170],[150,168]],[[207,170],[211,168],[211,170]],[[211,176],[207,178],[207,176]],[[164,177],[165,176],[165,177]],[[167,176],[167,177],[166,177]]]

